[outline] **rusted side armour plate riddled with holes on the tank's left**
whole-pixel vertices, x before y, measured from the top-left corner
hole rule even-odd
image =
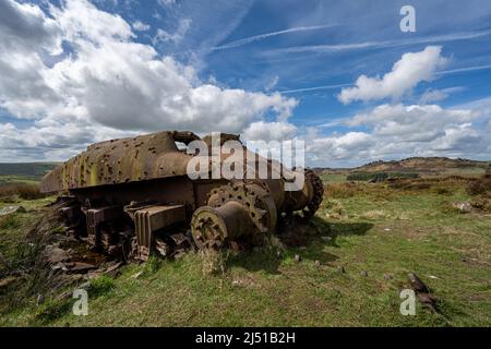
[[[191,156],[176,145],[175,135],[182,142],[182,134],[163,131],[89,145],[87,151],[49,172],[40,190],[49,193],[183,176]],[[191,132],[189,137],[197,139]]]

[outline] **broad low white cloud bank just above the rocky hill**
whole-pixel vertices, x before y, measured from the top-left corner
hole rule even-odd
[[[346,134],[314,136],[307,142],[311,164],[356,166],[376,159],[409,156],[484,158],[491,149],[484,101],[467,108],[444,109],[436,105],[382,105],[343,123]],[[476,123],[476,124],[475,124]]]

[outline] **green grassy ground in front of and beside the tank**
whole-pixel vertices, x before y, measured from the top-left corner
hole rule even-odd
[[[343,185],[337,176],[325,180]],[[224,270],[214,274],[203,273],[203,255],[192,252],[178,261],[152,258],[92,281],[88,316],[71,313],[72,299],[36,306],[32,298],[2,314],[0,325],[490,326],[491,216],[448,209],[468,198],[458,186],[438,194],[359,185],[347,197],[324,200],[306,246],[273,239],[250,252],[224,252]],[[28,214],[20,215],[2,239],[22,230]],[[416,316],[399,314],[409,272],[432,289],[439,313],[417,304]]]

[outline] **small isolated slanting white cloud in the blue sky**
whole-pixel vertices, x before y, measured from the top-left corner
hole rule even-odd
[[[420,52],[404,53],[382,79],[361,75],[355,87],[343,88],[338,99],[345,105],[354,100],[399,99],[420,82],[434,79],[434,72],[447,61],[441,50],[439,46],[428,46]]]

